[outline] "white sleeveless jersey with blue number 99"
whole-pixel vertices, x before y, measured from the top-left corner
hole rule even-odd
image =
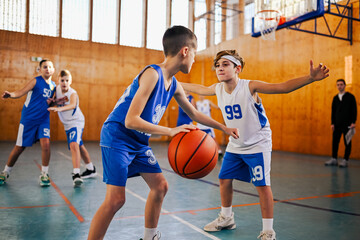
[[[251,96],[249,82],[239,79],[231,94],[225,91],[224,83],[218,83],[215,88],[226,126],[239,129],[238,139],[229,138],[227,152],[251,154],[272,150],[270,123],[260,97],[256,103]]]

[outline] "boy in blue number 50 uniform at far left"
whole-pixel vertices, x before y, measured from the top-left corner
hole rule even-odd
[[[0,185],[9,178],[11,170],[26,147],[40,140],[42,167],[39,177],[40,186],[50,186],[50,114],[47,110],[49,99],[54,95],[55,83],[51,77],[55,72],[53,63],[44,59],[40,62],[40,76],[29,81],[22,89],[5,91],[2,99],[20,98],[27,94],[18,130],[16,145],[10,153],[4,171],[0,173]]]

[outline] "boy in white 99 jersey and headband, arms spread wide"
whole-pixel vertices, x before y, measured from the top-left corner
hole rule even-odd
[[[239,129],[240,137],[230,137],[219,173],[221,212],[219,217],[204,227],[205,231],[236,228],[232,212],[233,180],[252,182],[260,198],[263,229],[261,240],[275,240],[273,230],[273,195],[270,187],[271,130],[260,97],[257,93],[289,93],[329,76],[322,64],[314,68],[310,61],[310,74],[283,83],[265,83],[239,79],[245,62],[235,50],[217,53],[214,59],[220,83],[210,87],[182,83],[185,90],[201,95],[216,95],[226,126]]]

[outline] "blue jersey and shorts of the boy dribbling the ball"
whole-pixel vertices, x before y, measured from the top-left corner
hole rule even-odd
[[[165,89],[163,73],[157,65],[147,66],[125,90],[101,129],[103,180],[107,184],[125,186],[128,177],[138,176],[140,172],[161,172],[159,163],[149,147],[151,134],[125,127],[127,112],[139,89],[139,78],[149,67],[157,71],[159,78],[141,113],[142,119],[157,125],[176,91],[175,77],[172,78],[169,89]]]

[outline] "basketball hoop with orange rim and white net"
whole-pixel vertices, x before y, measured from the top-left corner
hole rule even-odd
[[[261,10],[255,14],[255,24],[264,40],[275,41],[275,31],[280,19],[281,12],[278,10]]]

